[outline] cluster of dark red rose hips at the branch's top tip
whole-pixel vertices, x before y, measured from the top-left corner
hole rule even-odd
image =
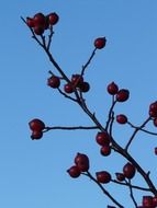
[[[33,18],[26,18],[26,24],[29,27],[33,28],[36,35],[43,35],[44,31],[49,28],[49,26],[55,25],[59,20],[57,13],[53,12],[48,15],[43,13],[36,13]]]

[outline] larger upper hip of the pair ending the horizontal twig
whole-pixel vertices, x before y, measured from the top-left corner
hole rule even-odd
[[[45,128],[45,124],[38,119],[34,118],[29,123],[30,129],[33,131],[42,131]]]

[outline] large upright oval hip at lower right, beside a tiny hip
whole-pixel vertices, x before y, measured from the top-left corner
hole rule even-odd
[[[125,177],[127,177],[130,180],[134,177],[135,172],[136,172],[135,166],[132,163],[130,163],[130,162],[127,162],[123,166],[123,174],[124,174]]]

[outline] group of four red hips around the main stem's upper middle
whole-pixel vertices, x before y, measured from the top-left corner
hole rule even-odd
[[[47,79],[47,85],[57,89],[60,86],[60,78],[57,76],[52,76]],[[88,92],[90,89],[90,85],[88,82],[83,81],[83,77],[81,74],[72,74],[70,82],[66,83],[64,85],[64,91],[68,94],[75,92],[75,90],[78,89],[81,92]]]

